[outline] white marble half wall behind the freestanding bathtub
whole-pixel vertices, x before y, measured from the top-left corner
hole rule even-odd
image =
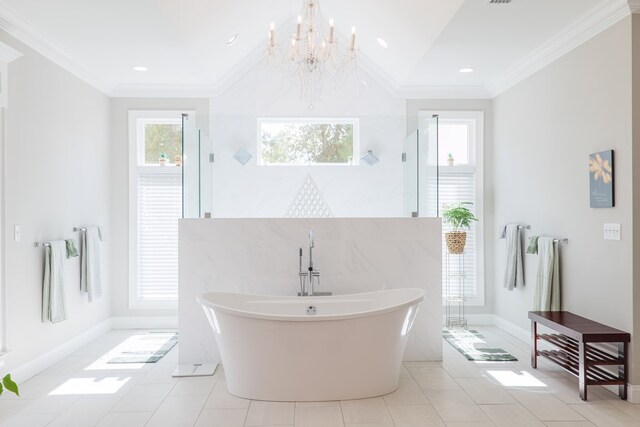
[[[206,292],[295,295],[298,253],[315,233],[317,291],[334,295],[421,288],[404,360],[438,361],[441,222],[437,218],[185,219],[180,221],[180,364],[219,363],[196,298]]]

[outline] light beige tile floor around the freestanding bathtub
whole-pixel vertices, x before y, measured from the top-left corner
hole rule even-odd
[[[640,405],[602,387],[578,397],[577,381],[554,365],[529,364],[529,344],[477,328],[518,362],[469,362],[443,343],[443,362],[408,362],[400,387],[373,399],[257,402],[227,393],[214,376],[172,378],[177,346],[156,364],[101,359],[141,331],[112,331],[0,398],[0,426],[484,427],[640,426]]]

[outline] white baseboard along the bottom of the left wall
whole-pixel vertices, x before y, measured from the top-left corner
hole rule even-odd
[[[83,332],[82,334],[65,342],[64,344],[59,345],[53,350],[46,352],[42,356],[39,356],[25,363],[24,365],[17,367],[16,369],[13,369],[11,377],[18,383],[25,382],[34,375],[37,375],[38,373],[47,369],[49,366],[64,359],[74,351],[81,349],[91,341],[106,334],[111,329],[111,319],[107,319],[89,329],[88,331]]]

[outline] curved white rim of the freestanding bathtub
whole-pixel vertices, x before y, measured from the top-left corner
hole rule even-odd
[[[411,291],[415,293],[415,297],[407,299],[404,302],[399,304],[391,305],[384,308],[379,308],[375,310],[368,311],[357,311],[353,313],[346,314],[318,314],[318,315],[279,315],[279,314],[266,314],[266,313],[257,313],[246,310],[239,310],[233,307],[221,305],[212,302],[208,298],[207,295],[215,294],[215,295],[244,295],[248,298],[258,297],[264,300],[291,300],[291,301],[300,301],[301,303],[312,303],[313,301],[331,301],[344,299],[347,297],[356,297],[362,296],[366,297],[367,295],[380,295],[380,294],[389,294],[389,293],[398,293],[399,291]],[[421,288],[400,288],[400,289],[384,289],[379,291],[371,291],[371,292],[362,292],[357,294],[344,294],[344,295],[331,295],[331,296],[319,296],[319,297],[299,297],[299,296],[291,296],[291,295],[265,295],[265,294],[254,294],[254,293],[243,293],[243,292],[205,292],[196,297],[198,303],[203,306],[210,308],[212,310],[219,310],[221,313],[225,313],[227,315],[239,316],[239,317],[248,317],[253,319],[262,319],[262,320],[273,320],[273,321],[284,321],[284,322],[319,322],[319,321],[337,321],[337,320],[346,320],[346,319],[357,319],[357,318],[365,318],[378,316],[381,314],[393,312],[399,310],[404,307],[411,307],[413,305],[417,305],[421,303],[426,296],[426,291]]]

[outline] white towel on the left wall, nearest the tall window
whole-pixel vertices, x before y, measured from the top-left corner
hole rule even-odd
[[[100,270],[100,240],[102,233],[95,225],[80,233],[80,290],[87,293],[89,302],[102,295]]]

